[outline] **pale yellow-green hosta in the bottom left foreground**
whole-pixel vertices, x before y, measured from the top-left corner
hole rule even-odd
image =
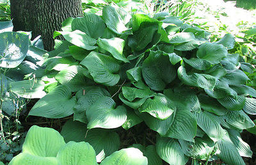
[[[147,164],[138,148],[125,148],[112,153],[100,164]],[[33,125],[22,146],[22,153],[15,156],[10,164],[97,164],[95,150],[84,141],[65,143],[60,133],[47,127]]]

